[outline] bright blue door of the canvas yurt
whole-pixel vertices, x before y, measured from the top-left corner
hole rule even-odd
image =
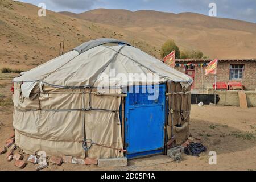
[[[164,151],[165,85],[134,86],[125,102],[127,158],[162,154]]]

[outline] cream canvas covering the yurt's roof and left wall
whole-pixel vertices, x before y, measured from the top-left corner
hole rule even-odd
[[[110,45],[110,43],[115,43]],[[111,76],[122,73],[128,79]],[[98,86],[109,76],[110,92]],[[122,157],[119,106],[122,88],[147,85],[147,78],[129,80],[129,73],[159,75],[159,82],[179,82],[188,88],[192,78],[168,67],[129,43],[115,39],[90,40],[14,78],[15,143],[28,154],[90,158]],[[109,83],[109,82],[108,82]],[[92,145],[85,152],[84,139]],[[107,147],[106,147],[107,146]]]

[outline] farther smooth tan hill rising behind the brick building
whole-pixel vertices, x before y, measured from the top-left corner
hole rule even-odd
[[[97,9],[81,14],[61,12],[95,23],[122,27],[158,48],[174,39],[181,49],[200,49],[209,57],[255,58],[256,24],[196,13],[163,13]]]

